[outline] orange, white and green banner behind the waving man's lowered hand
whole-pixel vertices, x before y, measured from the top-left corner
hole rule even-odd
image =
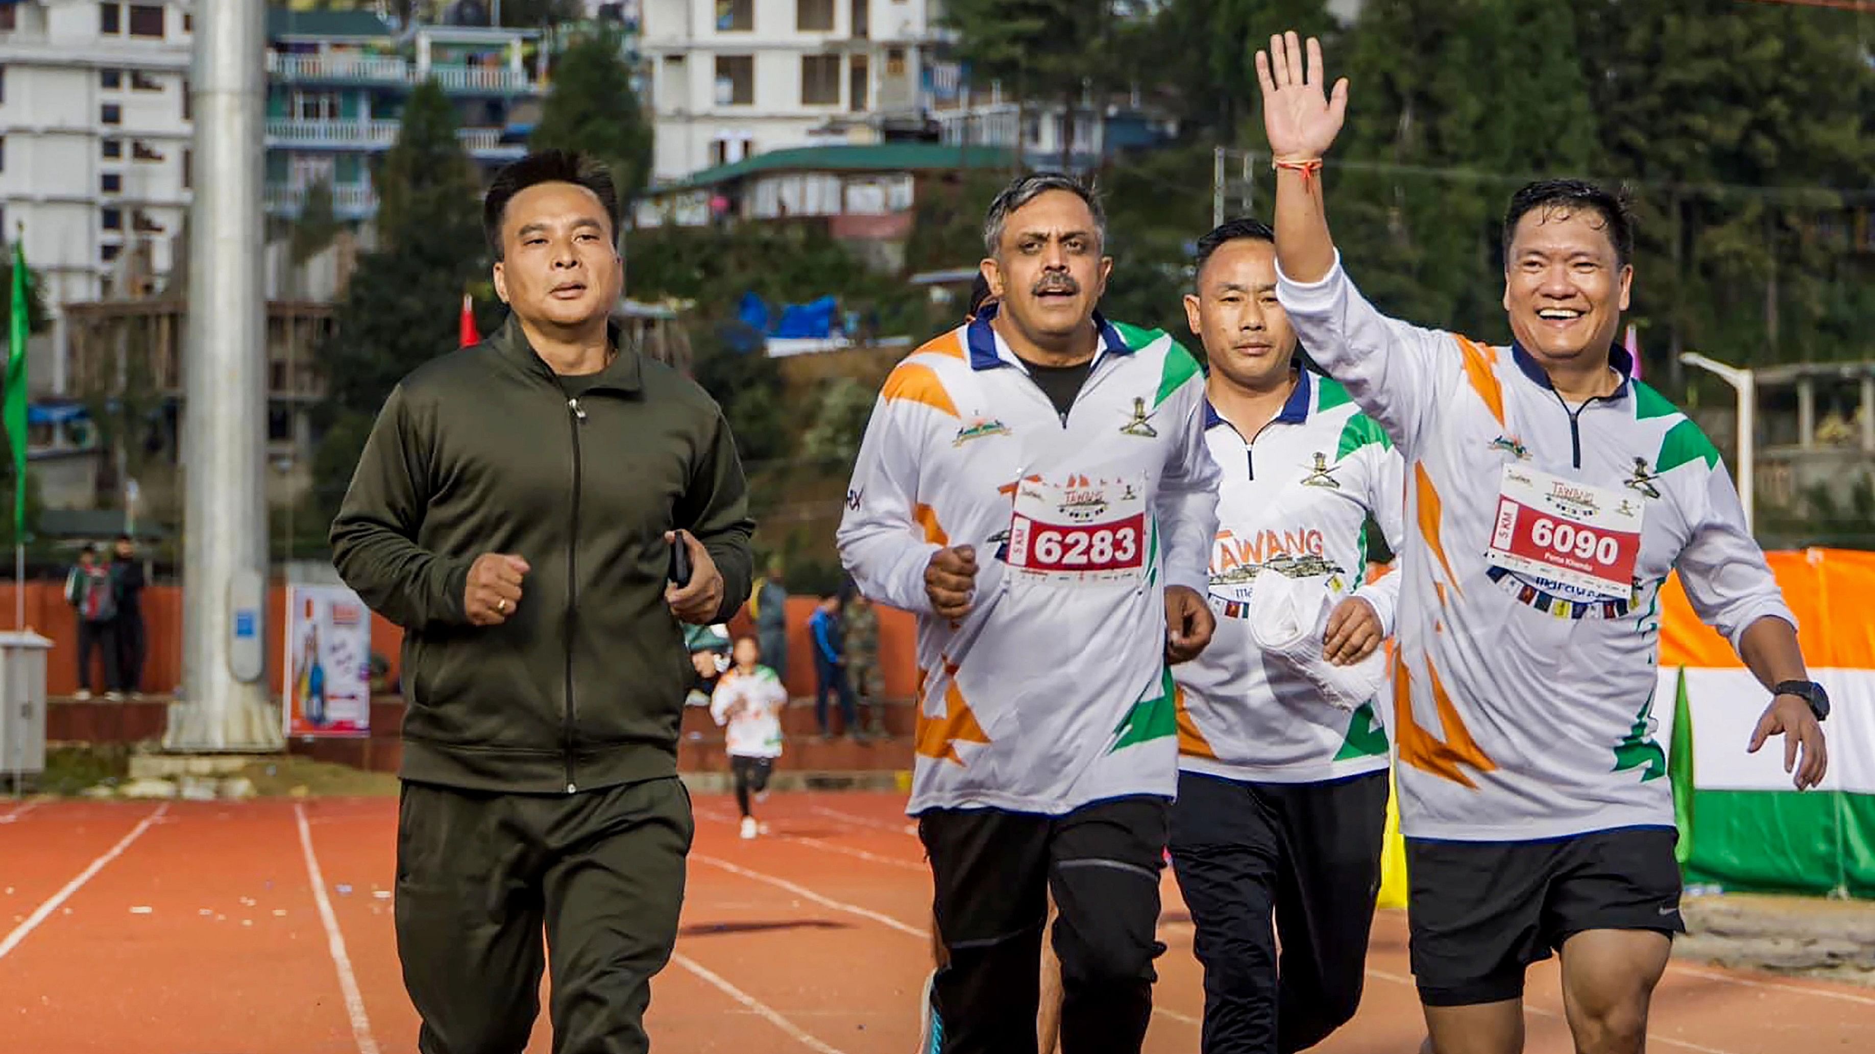
[[[1674,790],[1689,790],[1676,793],[1686,881],[1875,896],[1875,553],[1768,559],[1796,613],[1809,675],[1830,692],[1830,771],[1821,788],[1798,791],[1783,771],[1783,737],[1746,754],[1768,692],[1669,581],[1654,741],[1669,752]],[[1676,711],[1691,728],[1674,728]]]

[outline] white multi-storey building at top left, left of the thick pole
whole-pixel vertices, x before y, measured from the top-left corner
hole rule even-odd
[[[188,0],[0,6],[0,227],[6,242],[24,233],[54,313],[109,296],[133,251],[171,268],[191,182],[191,36]]]

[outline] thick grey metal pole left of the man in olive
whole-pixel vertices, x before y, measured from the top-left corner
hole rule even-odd
[[[182,701],[171,750],[274,750],[266,658],[264,4],[195,8],[184,345]]]

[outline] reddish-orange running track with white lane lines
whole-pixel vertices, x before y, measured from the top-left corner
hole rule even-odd
[[[735,836],[698,799],[677,956],[651,1035],[682,1054],[913,1054],[930,878],[902,797],[774,795]],[[396,801],[0,801],[0,1054],[412,1054],[392,932]],[[315,881],[315,874],[322,881]],[[1198,1048],[1191,923],[1164,885],[1151,1054]],[[1530,1054],[1568,1054],[1554,962]],[[1322,1054],[1414,1054],[1406,925],[1376,921],[1356,1020]],[[529,1054],[549,1050],[548,1024]],[[1875,1050],[1875,990],[1674,962],[1648,1050]]]

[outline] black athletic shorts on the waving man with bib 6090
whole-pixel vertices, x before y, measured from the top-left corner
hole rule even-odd
[[[1686,932],[1678,831],[1543,842],[1406,840],[1412,971],[1429,1007],[1522,996],[1524,968],[1584,930]]]

